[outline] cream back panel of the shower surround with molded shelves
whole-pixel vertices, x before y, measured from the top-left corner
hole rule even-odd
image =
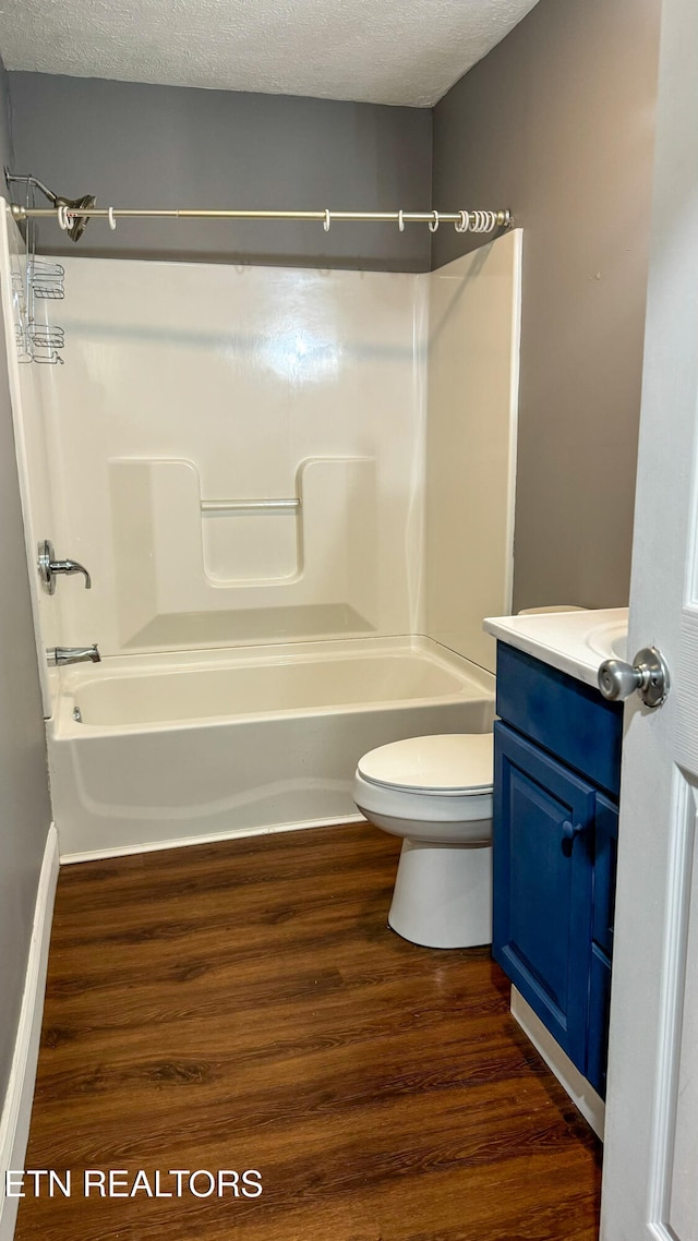
[[[411,633],[426,287],[65,259],[39,375],[62,642],[104,654]],[[288,501],[262,506],[261,501]]]

